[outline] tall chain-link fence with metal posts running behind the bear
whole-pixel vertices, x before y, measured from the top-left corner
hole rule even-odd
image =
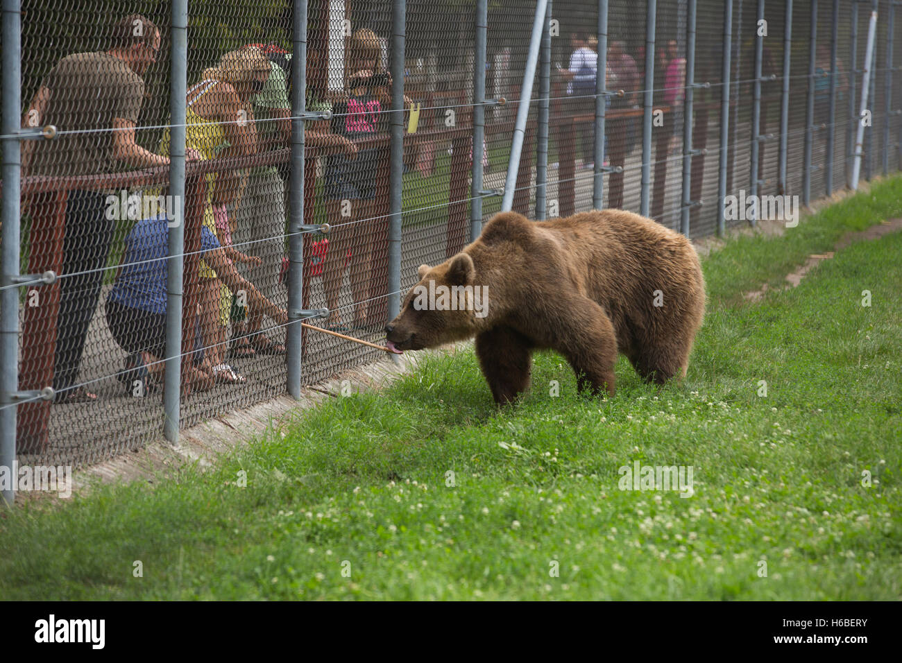
[[[379,343],[505,192],[699,236],[902,157],[889,0],[3,6],[5,465],[375,360],[301,323]]]

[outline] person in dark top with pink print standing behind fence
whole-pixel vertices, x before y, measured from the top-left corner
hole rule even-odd
[[[391,106],[391,76],[382,63],[382,48],[372,30],[362,28],[351,36],[348,63],[350,74],[333,108],[332,132],[352,141],[375,138],[385,131],[382,109]],[[376,216],[376,172],[380,158],[387,158],[387,152],[372,146],[360,149],[356,158],[344,154],[327,158],[326,208],[333,230],[329,235],[323,285],[329,329],[350,330],[339,313],[339,294],[348,267],[354,301],[351,327],[360,329],[367,325],[370,260],[375,238],[370,237],[369,224],[364,219]]]

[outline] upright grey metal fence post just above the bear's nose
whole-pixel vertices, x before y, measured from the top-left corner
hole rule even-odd
[[[407,32],[407,0],[391,7],[391,156],[389,168],[389,311],[391,320],[400,312],[401,194],[404,177],[404,41]],[[473,160],[483,160],[483,146],[473,146]]]

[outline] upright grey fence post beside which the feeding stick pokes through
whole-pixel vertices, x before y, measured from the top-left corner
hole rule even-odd
[[[304,115],[307,112],[307,0],[293,0],[291,26],[291,178],[286,386],[300,400],[304,308]]]

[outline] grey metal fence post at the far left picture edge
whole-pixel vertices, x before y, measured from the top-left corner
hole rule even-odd
[[[11,279],[19,275],[19,191],[22,145],[16,134],[22,122],[22,14],[20,0],[3,0],[3,253],[0,254],[0,466],[15,476],[15,419],[13,394],[19,388],[19,289]],[[15,482],[13,482],[14,484]],[[12,504],[14,485],[0,493]]]

